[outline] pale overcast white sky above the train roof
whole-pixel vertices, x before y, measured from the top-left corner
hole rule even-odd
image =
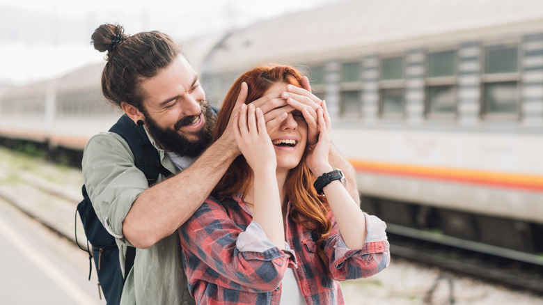
[[[56,77],[102,59],[91,34],[102,23],[127,33],[158,30],[178,40],[225,33],[338,0],[0,1],[0,85]]]

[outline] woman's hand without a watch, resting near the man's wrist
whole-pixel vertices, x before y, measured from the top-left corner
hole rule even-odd
[[[255,109],[253,104],[242,104],[233,127],[237,146],[251,169],[255,173],[261,170],[275,173],[277,159],[262,110]]]

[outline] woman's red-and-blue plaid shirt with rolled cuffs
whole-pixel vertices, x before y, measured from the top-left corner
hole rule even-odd
[[[338,281],[372,276],[388,266],[390,251],[383,221],[365,214],[363,249],[347,248],[332,212],[333,229],[324,242],[329,272],[317,254],[317,236],[288,217],[285,250],[268,240],[239,196],[207,198],[179,229],[189,291],[196,304],[279,304],[281,281],[295,268],[306,304],[344,304]]]

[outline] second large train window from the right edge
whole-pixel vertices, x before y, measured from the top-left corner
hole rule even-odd
[[[456,114],[456,65],[455,50],[428,53],[425,94],[428,118],[452,118]]]

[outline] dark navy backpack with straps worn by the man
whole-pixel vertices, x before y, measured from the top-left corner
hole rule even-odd
[[[134,154],[134,163],[140,171],[145,173],[149,187],[158,179],[159,173],[162,173],[166,177],[173,175],[173,173],[162,166],[158,150],[152,146],[143,126],[136,125],[126,114],[119,118],[109,132],[120,134],[127,141]],[[107,304],[119,304],[126,278],[123,277],[123,273],[120,270],[119,249],[115,242],[115,237],[111,236],[104,226],[102,226],[100,219],[98,219],[95,213],[91,199],[88,198],[85,185],[83,185],[81,192],[83,193],[83,200],[77,205],[76,221],[77,212],[79,212],[79,217],[81,218],[87,237],[87,249],[79,246],[77,234],[75,238],[79,248],[88,253],[88,279],[89,281],[91,280],[91,273],[93,272],[92,260],[94,258],[98,275],[98,293],[100,299],[102,299],[102,295],[100,294],[101,286]],[[92,244],[92,253],[90,251],[91,248],[88,247],[89,242]],[[125,276],[132,269],[135,257],[136,249],[134,247],[127,247]]]

